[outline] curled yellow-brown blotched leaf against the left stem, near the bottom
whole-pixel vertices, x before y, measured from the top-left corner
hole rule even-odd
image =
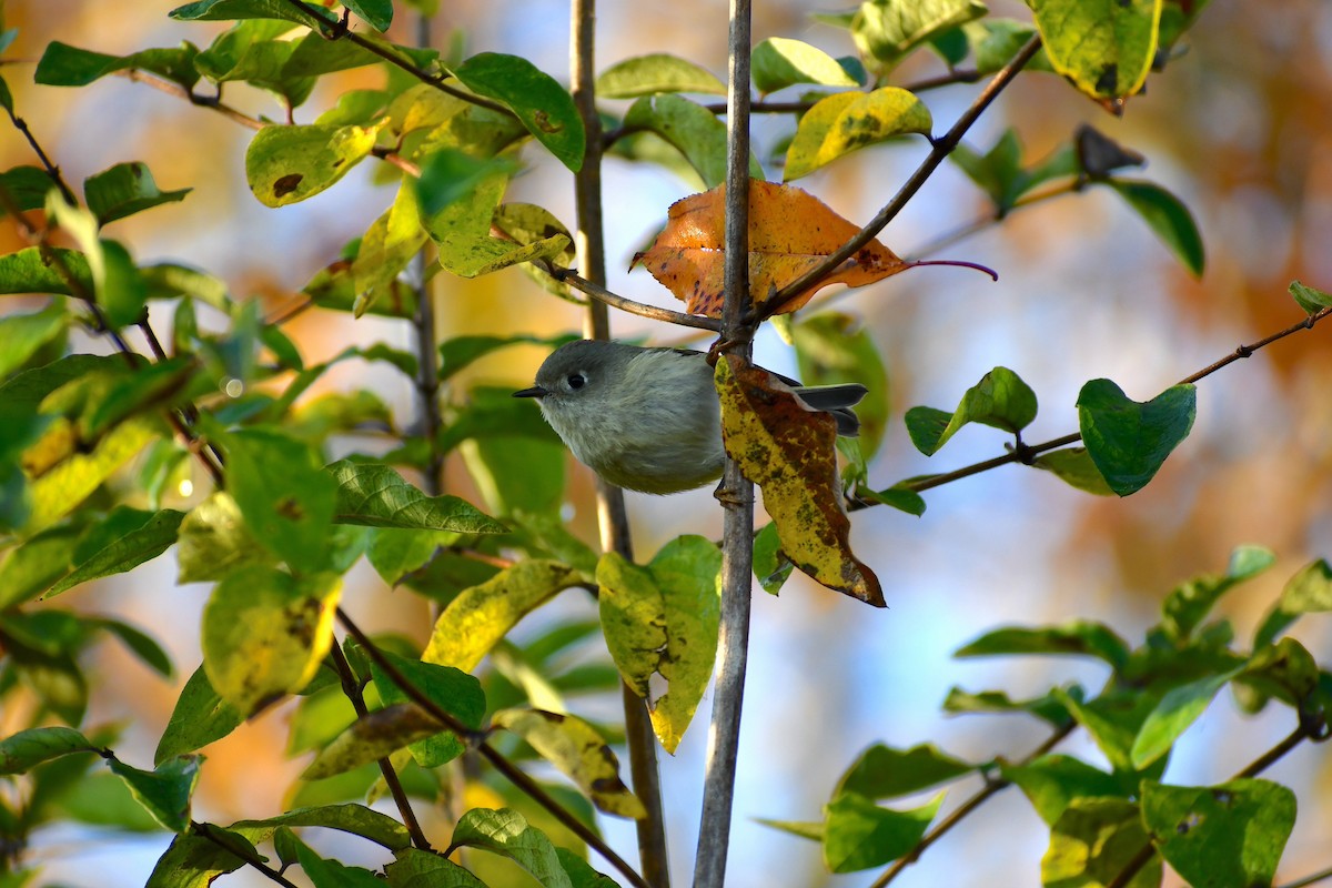
[[[490,723],[517,734],[573,780],[606,813],[647,816],[643,803],[619,779],[619,760],[597,730],[571,715],[542,710],[501,710]]]

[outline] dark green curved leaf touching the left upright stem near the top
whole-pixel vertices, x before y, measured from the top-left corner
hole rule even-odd
[[[482,52],[453,69],[462,84],[507,105],[537,141],[573,172],[582,166],[586,134],[565,88],[526,59]]]

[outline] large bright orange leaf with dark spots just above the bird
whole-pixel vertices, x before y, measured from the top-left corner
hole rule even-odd
[[[750,182],[749,276],[755,305],[819,265],[860,229],[827,204],[791,185]],[[691,314],[721,317],[725,301],[726,186],[671,204],[666,228],[634,257]],[[863,286],[911,268],[878,241],[870,241],[842,268],[782,305],[802,308],[829,284]]]

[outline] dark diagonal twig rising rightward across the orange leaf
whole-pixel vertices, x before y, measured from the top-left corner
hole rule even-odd
[[[874,240],[875,234],[883,230],[883,228],[891,222],[898,213],[907,205],[916,192],[926,184],[930,176],[938,169],[939,164],[958,146],[962,137],[971,128],[974,122],[984,113],[990,103],[995,100],[1004,87],[1007,87],[1018,72],[1031,61],[1036,51],[1040,49],[1040,37],[1034,36],[1028,40],[1018,55],[1003,67],[1003,69],[994,76],[994,79],[986,85],[980,95],[976,96],[971,107],[958,118],[958,122],[952,125],[944,136],[934,140],[934,148],[930,154],[920,162],[911,177],[902,185],[898,193],[892,197],[888,204],[879,210],[879,213],[870,220],[866,225],[852,237],[850,241],[843,244],[836,252],[829,256],[826,260],[819,262],[815,268],[810,269],[807,273],[798,277],[795,281],[787,284],[781,290],[770,296],[763,301],[763,304],[757,309],[755,317],[758,320],[765,320],[781,312],[782,306],[790,302],[793,298],[810,289],[814,284],[823,280],[832,272],[835,272],[843,262],[855,256],[862,246]]]

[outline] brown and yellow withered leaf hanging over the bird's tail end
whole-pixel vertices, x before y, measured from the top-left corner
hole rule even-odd
[[[786,556],[823,586],[887,607],[878,576],[851,554],[836,421],[806,409],[774,374],[734,355],[717,362],[717,390],[726,453],[763,490]]]

